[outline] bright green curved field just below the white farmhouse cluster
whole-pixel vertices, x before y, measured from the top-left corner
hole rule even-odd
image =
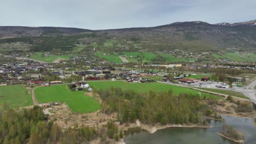
[[[35,95],[39,103],[66,102],[69,108],[78,113],[94,112],[100,109],[98,101],[84,94],[84,91],[71,92],[67,85],[38,87]]]

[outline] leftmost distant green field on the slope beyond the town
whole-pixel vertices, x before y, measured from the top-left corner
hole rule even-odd
[[[32,59],[36,59],[38,61],[48,62],[52,63],[58,58],[62,59],[69,59],[71,55],[61,55],[61,56],[55,56],[55,55],[49,55],[42,57],[42,52],[35,52],[33,55],[30,56]]]

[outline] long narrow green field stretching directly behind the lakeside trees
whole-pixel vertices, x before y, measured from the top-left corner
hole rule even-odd
[[[195,91],[194,89],[167,85],[159,82],[128,83],[124,81],[93,81],[93,82],[90,81],[88,83],[92,88],[95,88],[95,89],[99,89],[99,88],[109,89],[110,87],[121,87],[124,90],[133,89],[133,91],[138,93],[148,93],[149,91],[167,92],[171,88],[174,94],[179,94],[179,93],[200,94],[201,96],[206,96],[206,98],[221,99],[221,97],[218,97],[216,95],[198,92],[198,91]]]

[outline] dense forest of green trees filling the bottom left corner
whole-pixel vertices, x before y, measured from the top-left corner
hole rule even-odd
[[[62,131],[53,121],[48,120],[42,109],[15,111],[3,106],[5,112],[0,113],[0,143],[88,143],[97,136],[93,127],[74,125]]]

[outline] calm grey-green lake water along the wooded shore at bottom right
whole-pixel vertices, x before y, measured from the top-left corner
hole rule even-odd
[[[253,119],[223,116],[225,123],[232,125],[236,130],[245,134],[245,143],[256,143],[256,126]],[[215,144],[215,143],[236,143],[219,136],[224,122],[211,121],[212,128],[166,128],[156,131],[153,134],[141,130],[137,133],[125,136],[126,144],[132,143],[184,143],[184,144]]]

